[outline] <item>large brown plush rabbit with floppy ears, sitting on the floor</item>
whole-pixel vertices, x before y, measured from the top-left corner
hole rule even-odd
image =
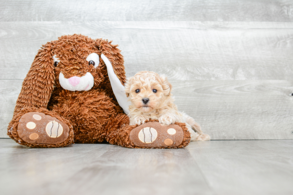
[[[129,118],[123,113],[127,107],[119,106],[116,97],[120,94],[115,93],[119,92],[115,86],[123,87],[125,81],[123,56],[117,45],[83,35],[61,36],[43,45],[36,55],[22,84],[7,134],[30,147],[103,141],[129,148],[188,145],[190,134],[184,123],[161,126],[150,121],[129,126]],[[168,128],[177,133],[166,133]],[[146,141],[148,136],[150,142]]]

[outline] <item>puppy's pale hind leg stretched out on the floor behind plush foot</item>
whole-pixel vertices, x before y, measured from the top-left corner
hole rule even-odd
[[[195,139],[192,139],[193,136],[191,137],[191,139],[192,139],[191,141],[208,141],[208,140],[210,140],[210,136],[208,134],[204,134],[202,132],[202,128],[199,126],[199,124],[197,122],[194,121],[194,119],[192,117],[188,116],[185,113],[182,113],[182,115],[185,119],[187,127],[190,126],[197,134]],[[191,131],[190,131],[190,133],[194,134]]]

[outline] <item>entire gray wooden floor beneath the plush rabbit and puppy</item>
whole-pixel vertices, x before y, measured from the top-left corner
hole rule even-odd
[[[293,194],[293,140],[28,148],[0,139],[1,194]]]

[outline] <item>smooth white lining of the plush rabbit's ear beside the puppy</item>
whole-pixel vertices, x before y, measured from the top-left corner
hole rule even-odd
[[[103,61],[106,64],[111,87],[112,87],[114,95],[117,99],[117,102],[121,106],[123,111],[126,114],[128,114],[129,113],[128,107],[130,105],[130,102],[128,101],[128,97],[126,96],[126,93],[124,91],[124,86],[121,84],[120,80],[116,76],[116,74],[113,70],[113,66],[112,66],[111,62],[109,61],[109,59],[104,54],[101,54],[101,58],[103,59]]]

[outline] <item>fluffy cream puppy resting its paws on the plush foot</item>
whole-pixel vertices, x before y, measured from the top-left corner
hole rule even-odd
[[[171,94],[172,85],[167,77],[155,72],[141,71],[127,79],[126,96],[130,97],[130,125],[144,124],[145,120],[157,119],[162,125],[184,122],[191,134],[191,141],[210,140],[199,124],[183,112],[178,112]]]

